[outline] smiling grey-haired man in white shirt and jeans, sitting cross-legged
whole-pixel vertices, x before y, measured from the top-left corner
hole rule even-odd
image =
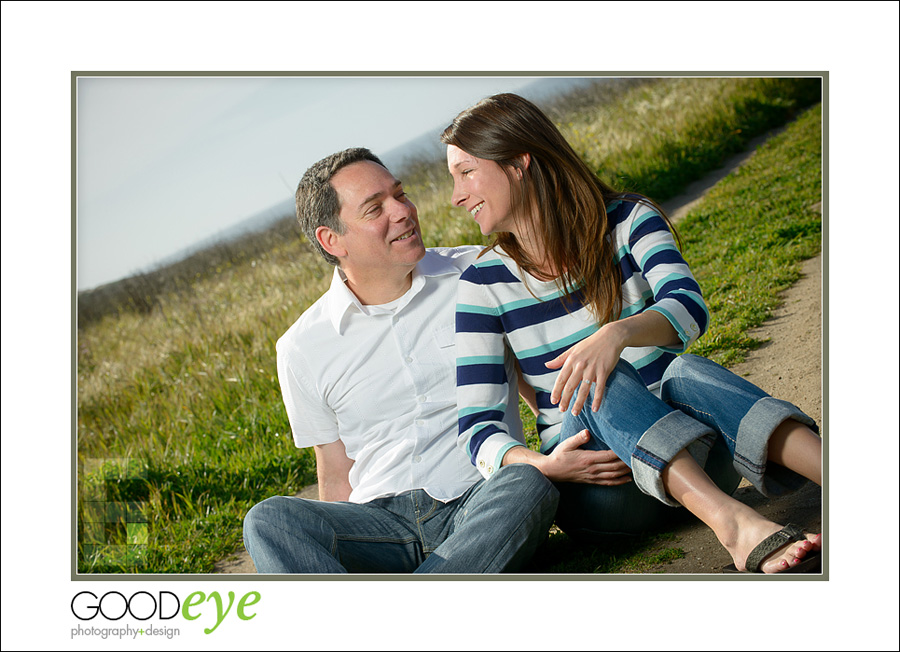
[[[336,265],[331,288],[277,344],[294,442],[315,449],[321,501],[279,496],[250,510],[257,570],[520,568],[558,493],[530,465],[484,480],[457,448],[456,285],[478,249],[426,250],[416,207],[366,149],[310,167],[296,199],[310,242]],[[506,371],[515,399],[511,360]],[[515,408],[504,420],[521,433]]]

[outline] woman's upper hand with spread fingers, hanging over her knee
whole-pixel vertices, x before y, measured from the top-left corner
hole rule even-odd
[[[606,379],[616,368],[619,356],[626,346],[623,329],[618,327],[621,323],[604,325],[590,337],[546,363],[548,369],[560,370],[550,392],[550,401],[559,403],[560,411],[569,409],[569,402],[574,395],[572,414],[580,414],[591,391],[591,383],[596,383],[591,408],[594,412],[600,409]]]

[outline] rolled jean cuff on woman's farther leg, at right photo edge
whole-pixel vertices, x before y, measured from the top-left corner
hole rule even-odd
[[[767,464],[769,438],[788,419],[818,433],[816,422],[793,403],[767,396],[759,399],[741,419],[734,443],[734,468],[764,496],[778,496],[799,489],[807,479],[779,464]]]

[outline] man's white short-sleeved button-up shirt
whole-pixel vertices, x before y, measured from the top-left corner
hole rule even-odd
[[[363,306],[336,268],[330,289],[278,340],[278,379],[298,448],[340,439],[350,501],[410,489],[441,501],[481,475],[457,447],[455,310],[479,247],[428,249],[390,310]],[[507,361],[510,432],[521,433]],[[520,434],[521,438],[521,434]]]

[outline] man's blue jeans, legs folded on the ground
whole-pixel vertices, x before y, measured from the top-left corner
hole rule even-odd
[[[559,494],[535,467],[504,466],[442,503],[421,489],[368,503],[276,496],[244,519],[260,573],[500,573],[531,559]]]

